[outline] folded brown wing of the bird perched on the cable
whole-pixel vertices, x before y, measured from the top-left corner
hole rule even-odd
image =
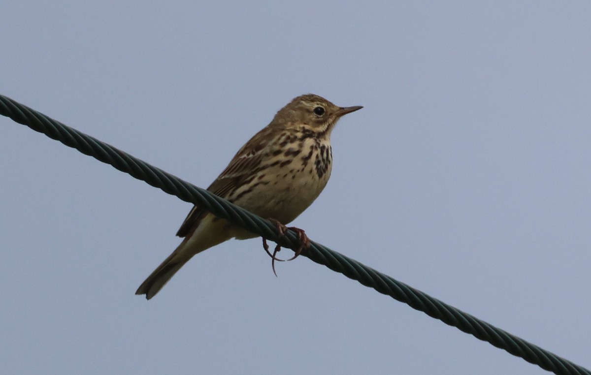
[[[268,138],[265,136],[265,129],[257,133],[252,139],[234,156],[228,167],[222,174],[207,188],[208,191],[218,197],[228,199],[229,194],[239,187],[243,181],[255,172],[261,165],[263,151],[267,145]],[[207,213],[200,207],[194,206],[177,231],[178,237],[186,237],[194,228],[199,225],[202,217]]]

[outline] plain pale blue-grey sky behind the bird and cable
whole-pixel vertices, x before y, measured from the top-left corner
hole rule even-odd
[[[293,97],[362,105],[293,224],[591,369],[591,3],[3,9],[0,94],[200,187]],[[260,239],[146,301],[191,204],[4,117],[0,174],[0,373],[545,373]]]

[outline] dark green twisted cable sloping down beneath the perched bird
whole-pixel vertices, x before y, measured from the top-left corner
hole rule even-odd
[[[83,154],[110,164],[119,171],[145,181],[165,193],[176,195],[181,200],[196,204],[218,217],[231,221],[233,224],[259,234],[268,240],[278,242],[281,246],[290,249],[297,249],[298,247],[298,238],[294,231],[290,230],[285,234],[285,237],[280,238],[275,224],[270,221],[249,213],[243,208],[209,193],[207,190],[180,180],[180,178],[161,169],[152,167],[152,165],[134,158],[134,156],[124,151],[70,128],[59,121],[48,118],[43,113],[3,95],[0,95],[0,114],[26,125],[34,131],[44,133],[48,137],[75,148]],[[423,311],[432,318],[459,328],[459,330],[469,333],[479,340],[487,341],[514,356],[521,357],[532,364],[537,364],[544,370],[556,374],[591,375],[591,371],[577,366],[569,360],[558,357],[556,354],[550,353],[537,345],[528,343],[466,312],[447,305],[439,301],[439,299],[411,288],[411,286],[403,282],[384,275],[334,250],[330,250],[322,244],[311,242],[310,248],[303,252],[302,255],[365,286],[374,288],[381,294],[391,296],[418,311]]]

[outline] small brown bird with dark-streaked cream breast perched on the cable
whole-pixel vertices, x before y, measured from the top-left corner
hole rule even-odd
[[[361,108],[339,107],[314,94],[296,97],[242,146],[207,190],[258,216],[290,223],[312,204],[329,180],[330,133],[337,120]],[[184,237],[183,242],[135,294],[152,298],[191,257],[203,250],[233,237],[257,237],[197,206],[190,211],[177,236]]]

